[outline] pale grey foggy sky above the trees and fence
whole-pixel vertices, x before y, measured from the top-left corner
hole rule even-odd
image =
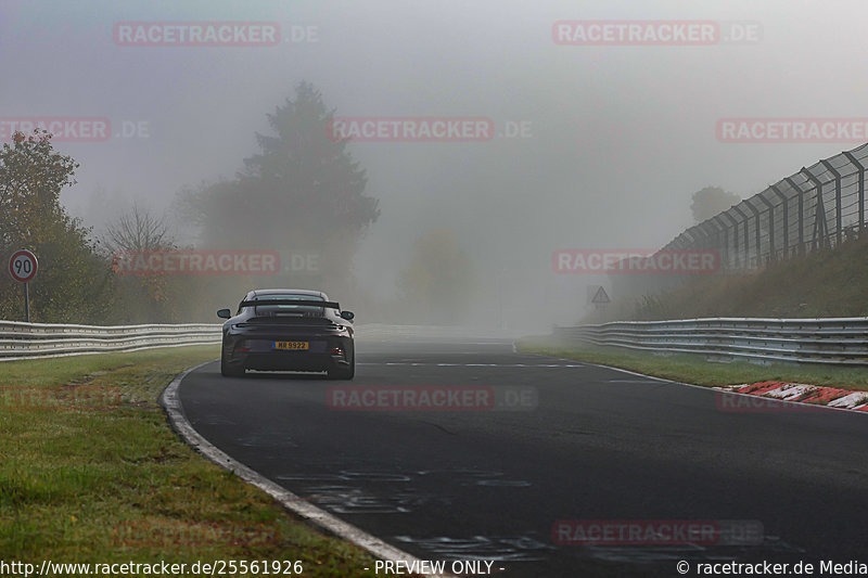
[[[471,321],[545,329],[580,318],[586,286],[605,282],[556,273],[553,251],[660,247],[693,224],[694,191],[749,196],[853,147],[720,142],[715,124],[863,116],[867,12],[859,0],[0,0],[0,116],[111,120],[105,142],[55,144],[81,164],[62,198],[98,230],[132,203],[175,218],[183,188],[231,179],[303,80],[339,116],[490,118],[497,134],[482,142],[348,145],[381,209],[353,272],[394,296],[417,239],[448,229],[481,280]],[[560,20],[750,21],[762,38],[559,46]],[[113,26],[129,21],[276,22],[290,38],[118,46]]]

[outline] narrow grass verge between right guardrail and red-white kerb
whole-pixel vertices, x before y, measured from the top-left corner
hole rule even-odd
[[[576,359],[627,369],[676,382],[719,386],[765,381],[826,385],[843,389],[868,390],[868,371],[864,368],[796,365],[774,363],[758,365],[746,361],[715,363],[701,356],[660,356],[620,347],[564,345],[548,336],[526,337],[518,342],[521,351]]]

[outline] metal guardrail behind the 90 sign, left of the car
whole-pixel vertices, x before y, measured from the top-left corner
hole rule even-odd
[[[73,325],[0,321],[0,361],[220,343],[220,324]]]

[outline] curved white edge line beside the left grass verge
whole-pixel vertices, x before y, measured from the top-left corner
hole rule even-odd
[[[190,373],[216,361],[217,360],[205,361],[199,365],[186,369],[176,375],[159,395],[158,402],[168,416],[169,425],[171,425],[171,428],[175,431],[175,433],[177,433],[187,445],[224,470],[232,472],[247,484],[251,484],[252,486],[265,491],[275,500],[280,502],[283,508],[327,534],[346,540],[361,548],[362,550],[366,550],[380,560],[403,561],[409,564],[412,564],[413,562],[422,562],[412,554],[399,550],[384,542],[380,538],[376,538],[375,536],[335,517],[324,510],[317,508],[310,502],[298,498],[290,490],[279,486],[275,481],[271,481],[255,470],[252,470],[251,467],[247,467],[241,462],[234,460],[228,453],[218,449],[210,441],[205,439],[202,434],[196,432],[193,428],[193,425],[187,420],[187,414],[183,412],[178,389],[180,388],[183,378]],[[420,576],[424,576],[425,578],[451,578],[451,575],[448,574],[425,574]]]

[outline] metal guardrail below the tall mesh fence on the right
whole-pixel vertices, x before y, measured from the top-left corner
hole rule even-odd
[[[868,365],[868,318],[614,321],[556,327],[566,342],[669,354],[700,354],[716,360],[748,359]]]

